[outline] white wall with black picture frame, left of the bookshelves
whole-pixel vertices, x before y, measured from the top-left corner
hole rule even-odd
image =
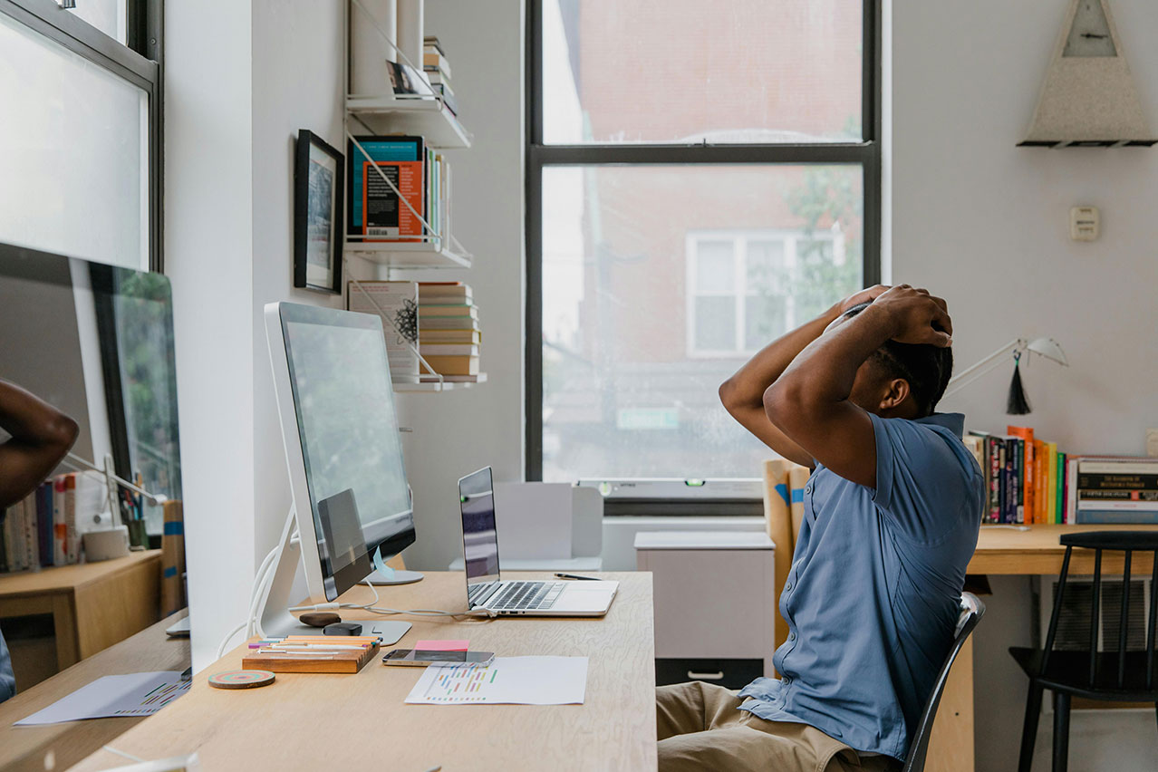
[[[263,307],[343,307],[338,295],[293,288],[293,164],[299,128],[345,145],[344,7],[176,3],[166,20],[166,272],[198,669],[244,619],[291,501]],[[359,259],[350,271],[373,275]]]

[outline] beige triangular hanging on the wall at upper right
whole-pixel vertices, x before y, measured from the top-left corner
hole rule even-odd
[[[1108,0],[1071,0],[1021,147],[1150,147]]]

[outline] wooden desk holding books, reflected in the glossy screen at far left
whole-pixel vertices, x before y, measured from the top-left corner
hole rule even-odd
[[[51,613],[60,670],[148,627],[160,609],[160,550],[0,575],[0,619]]]

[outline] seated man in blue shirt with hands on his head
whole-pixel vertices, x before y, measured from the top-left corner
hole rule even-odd
[[[953,641],[981,522],[945,301],[877,286],[775,340],[720,387],[728,412],[813,469],[780,595],[780,678],[657,690],[664,771],[900,769]],[[779,556],[778,556],[779,558]]]

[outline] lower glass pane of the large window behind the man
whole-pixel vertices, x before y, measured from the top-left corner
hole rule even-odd
[[[860,167],[548,167],[542,188],[543,479],[758,477],[770,450],[717,390],[748,351],[863,286]],[[785,245],[833,234],[841,265]],[[702,294],[705,242],[779,262],[778,284],[745,288],[746,267],[731,293]]]

